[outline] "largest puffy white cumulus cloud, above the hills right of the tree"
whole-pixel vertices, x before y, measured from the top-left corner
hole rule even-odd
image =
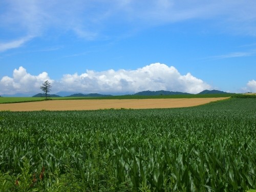
[[[136,70],[91,71],[78,75],[63,75],[62,89],[72,92],[136,93],[139,91],[181,91],[199,93],[209,84],[187,73],[181,75],[175,67],[154,63]]]

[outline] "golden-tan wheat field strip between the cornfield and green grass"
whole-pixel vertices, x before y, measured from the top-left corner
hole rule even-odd
[[[0,111],[70,111],[70,110],[99,110],[99,109],[157,109],[184,108],[196,106],[220,98],[179,98],[179,99],[95,99],[95,100],[48,100],[22,103],[0,104]]]

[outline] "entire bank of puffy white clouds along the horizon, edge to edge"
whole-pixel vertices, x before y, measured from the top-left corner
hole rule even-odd
[[[82,74],[65,74],[60,80],[51,79],[47,72],[31,75],[23,67],[13,71],[13,77],[0,80],[0,94],[38,93],[42,82],[52,83],[52,93],[60,91],[77,93],[136,93],[140,91],[179,91],[199,93],[212,87],[203,80],[165,64],[153,63],[137,70],[87,70]],[[256,81],[247,83],[244,91],[256,92]]]

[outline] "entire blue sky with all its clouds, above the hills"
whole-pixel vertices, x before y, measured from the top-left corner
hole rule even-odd
[[[256,92],[256,2],[2,0],[0,95]]]

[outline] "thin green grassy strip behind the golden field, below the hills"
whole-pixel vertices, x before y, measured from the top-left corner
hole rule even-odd
[[[121,96],[111,96],[111,97],[50,97],[50,99],[79,100],[79,99],[216,98],[216,97],[230,97],[232,95],[235,95],[235,94],[158,95],[158,96],[121,95]],[[0,97],[0,103],[42,101],[44,99],[45,99],[44,97]]]

